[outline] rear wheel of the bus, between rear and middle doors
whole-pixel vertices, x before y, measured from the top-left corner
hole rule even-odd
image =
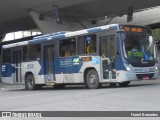
[[[27,90],[34,90],[36,88],[34,76],[32,74],[27,75],[25,87]]]

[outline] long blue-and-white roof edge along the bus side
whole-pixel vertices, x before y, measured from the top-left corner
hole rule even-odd
[[[23,46],[23,45],[39,44],[39,43],[46,42],[49,40],[60,40],[60,39],[65,39],[65,38],[84,35],[84,34],[92,34],[95,32],[100,32],[100,31],[108,30],[108,29],[118,30],[119,29],[118,26],[119,26],[118,24],[110,24],[110,25],[94,27],[94,28],[89,28],[89,29],[84,29],[84,30],[79,30],[79,31],[73,31],[73,32],[51,33],[51,34],[34,37],[32,40],[23,41],[23,42],[15,42],[12,44],[3,45],[2,48],[6,49],[6,48],[11,48],[11,47]]]

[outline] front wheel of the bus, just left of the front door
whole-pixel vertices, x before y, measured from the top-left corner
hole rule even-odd
[[[87,72],[85,82],[89,89],[97,89],[100,87],[98,73],[95,70],[89,70]]]

